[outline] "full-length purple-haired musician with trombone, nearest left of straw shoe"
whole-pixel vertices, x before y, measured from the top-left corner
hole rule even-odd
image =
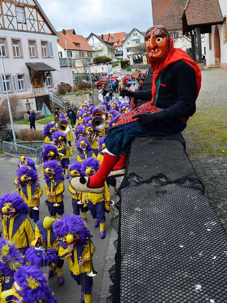
[[[61,164],[56,160],[45,162],[43,168],[46,182],[45,192],[48,197],[48,211],[50,216],[58,218],[58,215],[63,216],[64,214],[64,171]]]

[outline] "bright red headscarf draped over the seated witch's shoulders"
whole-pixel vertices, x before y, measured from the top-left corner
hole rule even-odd
[[[154,104],[154,100],[155,100],[155,95],[156,95],[156,80],[158,78],[159,73],[165,69],[168,65],[173,64],[177,61],[184,61],[186,62],[188,65],[190,65],[195,73],[196,73],[196,85],[197,85],[197,93],[196,93],[196,99],[199,95],[199,91],[201,88],[201,72],[199,69],[199,66],[197,65],[197,63],[192,60],[191,57],[189,57],[189,55],[186,54],[186,52],[184,52],[182,49],[180,48],[174,48],[173,46],[173,39],[170,38],[170,48],[169,48],[169,53],[165,59],[165,61],[163,61],[160,65],[158,64],[158,62],[152,61],[148,56],[147,56],[147,61],[150,63],[151,68],[153,70],[153,78],[152,78],[152,100],[151,100],[151,104]]]

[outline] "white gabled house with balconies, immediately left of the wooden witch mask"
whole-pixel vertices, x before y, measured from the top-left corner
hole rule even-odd
[[[134,55],[135,48],[140,44],[144,44],[144,35],[137,28],[133,28],[121,45],[123,48],[123,59],[129,58],[130,55]],[[134,63],[143,63],[142,58],[138,58],[137,61],[138,62]]]

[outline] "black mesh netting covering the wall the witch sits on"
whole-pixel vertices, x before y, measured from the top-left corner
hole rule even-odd
[[[112,220],[118,230],[116,264],[107,302],[226,302],[226,233],[183,137],[137,138],[119,194],[119,217]]]

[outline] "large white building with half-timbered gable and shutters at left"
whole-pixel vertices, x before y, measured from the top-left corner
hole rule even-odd
[[[3,0],[1,13],[0,55],[6,79],[0,65],[0,92],[4,94],[7,85],[9,92],[21,96],[21,114],[26,111],[27,98],[34,110],[40,110],[38,97],[50,95],[61,81],[70,80],[69,73],[66,78],[61,75],[57,45],[60,36],[36,0]]]

